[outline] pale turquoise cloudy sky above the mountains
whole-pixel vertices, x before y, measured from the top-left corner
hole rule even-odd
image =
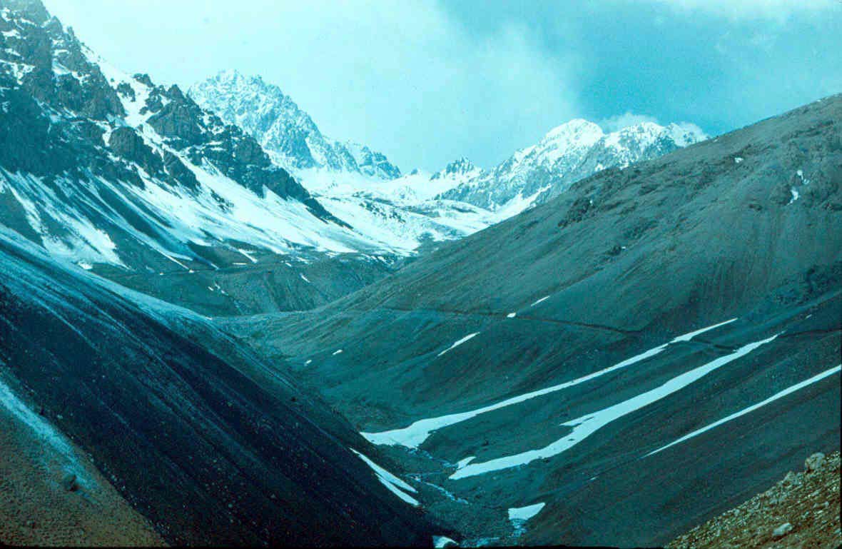
[[[842,92],[842,0],[45,0],[126,72],[260,74],[404,171],[581,117],[718,134]]]

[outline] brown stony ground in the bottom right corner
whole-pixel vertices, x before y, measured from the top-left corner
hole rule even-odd
[[[669,549],[834,549],[839,530],[839,451],[807,458],[774,487],[671,541]]]

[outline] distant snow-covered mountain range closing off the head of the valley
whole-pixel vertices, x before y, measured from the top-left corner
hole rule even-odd
[[[221,72],[188,93],[257,139],[334,216],[400,255],[482,230],[600,169],[706,138],[692,125],[643,123],[603,134],[592,122],[572,120],[488,173],[461,157],[436,173],[401,175],[380,153],[322,136],[306,112],[261,77]]]

